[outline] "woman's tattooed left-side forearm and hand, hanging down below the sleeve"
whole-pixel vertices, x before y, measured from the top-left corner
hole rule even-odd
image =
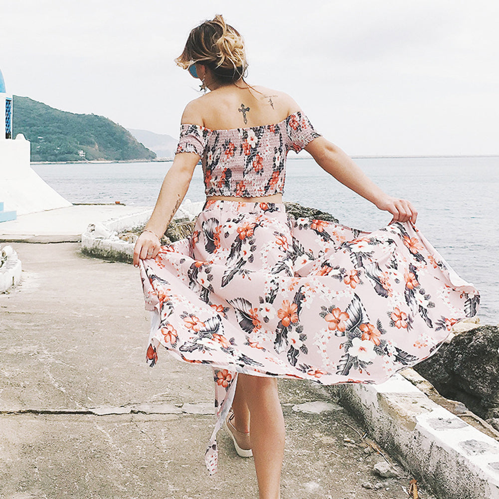
[[[144,228],[146,232],[143,232],[135,243],[133,264],[136,267],[139,265],[139,259],[155,258],[158,254],[161,247],[160,238],[187,193],[199,159],[200,156],[196,153],[175,155],[173,165],[163,180],[151,218]]]

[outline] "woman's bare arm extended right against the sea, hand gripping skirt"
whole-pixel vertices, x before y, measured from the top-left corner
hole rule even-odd
[[[392,222],[416,223],[418,213],[410,201],[385,194],[354,161],[339,147],[324,137],[317,137],[305,146],[316,163],[335,179],[380,210],[391,213]]]

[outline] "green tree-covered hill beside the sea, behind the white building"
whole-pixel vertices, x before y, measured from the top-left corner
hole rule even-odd
[[[13,136],[22,133],[31,142],[31,161],[156,158],[128,130],[104,116],[68,113],[17,95],[12,104]]]

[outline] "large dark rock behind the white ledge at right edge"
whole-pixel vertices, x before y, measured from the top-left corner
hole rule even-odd
[[[481,326],[462,332],[414,369],[449,399],[499,430],[499,328]],[[496,420],[494,420],[496,418]]]

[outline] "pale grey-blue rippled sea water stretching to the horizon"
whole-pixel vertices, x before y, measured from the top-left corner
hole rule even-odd
[[[499,322],[499,157],[356,158],[386,193],[409,199],[418,210],[416,226],[464,279],[481,292],[483,323]],[[72,203],[154,206],[171,162],[44,164],[33,169]],[[204,197],[201,166],[186,195]],[[333,214],[340,223],[375,230],[390,214],[336,181],[312,159],[286,166],[284,201]]]

